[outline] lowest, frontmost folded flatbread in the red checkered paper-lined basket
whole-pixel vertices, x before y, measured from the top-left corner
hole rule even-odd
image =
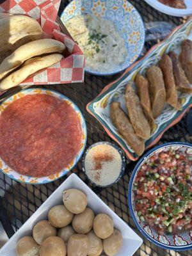
[[[22,83],[28,76],[35,74],[43,68],[50,67],[54,63],[61,61],[62,58],[62,54],[55,53],[27,60],[18,70],[5,77],[0,82],[0,91],[7,90],[8,88]]]

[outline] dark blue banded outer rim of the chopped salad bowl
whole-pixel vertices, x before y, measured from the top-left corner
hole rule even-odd
[[[141,164],[143,164],[143,161],[145,161],[145,159],[150,156],[150,154],[154,153],[156,150],[158,150],[159,148],[164,148],[164,147],[168,147],[168,146],[186,146],[186,147],[190,147],[192,148],[192,145],[190,143],[184,143],[184,142],[170,142],[170,143],[164,143],[163,145],[159,145],[155,148],[152,148],[151,150],[149,150],[147,152],[147,154],[145,154],[145,156],[141,157],[140,161],[138,161],[138,163],[136,164],[132,175],[131,175],[131,179],[129,180],[129,187],[128,187],[128,205],[129,205],[129,210],[131,212],[131,216],[132,219],[134,221],[134,223],[136,224],[136,227],[138,228],[138,230],[140,230],[141,234],[146,237],[150,242],[156,244],[157,246],[163,248],[163,249],[168,249],[168,250],[175,250],[175,251],[184,251],[184,250],[190,250],[192,248],[192,242],[191,244],[187,244],[187,245],[182,245],[182,246],[171,246],[171,245],[166,245],[163,243],[159,243],[156,239],[153,239],[151,236],[149,236],[147,234],[147,232],[145,232],[145,230],[143,230],[143,228],[141,227],[140,223],[138,222],[136,215],[134,213],[134,209],[132,207],[132,184],[134,181],[134,178],[136,176],[136,173],[138,172],[138,170],[140,169]]]

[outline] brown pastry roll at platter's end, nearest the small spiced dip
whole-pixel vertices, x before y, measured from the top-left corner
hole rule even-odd
[[[141,156],[145,150],[144,140],[136,135],[129,118],[120,108],[119,102],[111,103],[111,120],[118,132],[124,137],[124,140],[127,141],[127,144],[138,156]]]

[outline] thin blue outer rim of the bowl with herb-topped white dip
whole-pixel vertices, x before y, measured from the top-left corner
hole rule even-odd
[[[74,0],[73,0],[74,1]],[[67,8],[70,4],[73,3],[73,1],[71,1],[70,3],[67,4],[67,6],[65,6],[65,8]],[[143,18],[141,17],[140,13],[138,12],[138,10],[134,7],[134,5],[132,5],[130,2],[128,2],[132,8],[134,8],[134,11],[136,13],[138,13],[138,17],[140,17],[140,20],[141,20],[141,27],[142,27],[142,30],[143,30],[143,43],[141,45],[141,48],[140,48],[140,51],[138,52],[138,57],[134,59],[134,61],[132,61],[132,63],[130,62],[126,67],[124,68],[119,68],[118,70],[116,70],[115,72],[99,72],[99,71],[93,71],[91,70],[90,68],[86,68],[84,67],[84,71],[87,72],[88,74],[92,74],[92,75],[95,75],[95,76],[112,76],[112,75],[115,75],[115,74],[118,74],[120,72],[123,72],[124,70],[126,70],[127,68],[129,68],[134,62],[136,62],[140,56],[141,56],[141,52],[143,51],[143,47],[145,45],[145,36],[146,36],[146,30],[145,30],[145,23],[143,22]],[[61,13],[60,17],[64,16],[65,15],[65,8],[63,10],[63,12]]]

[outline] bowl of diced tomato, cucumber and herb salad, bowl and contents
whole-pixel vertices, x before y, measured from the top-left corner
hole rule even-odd
[[[157,246],[192,248],[192,145],[173,142],[149,150],[136,164],[128,189],[132,219]]]

